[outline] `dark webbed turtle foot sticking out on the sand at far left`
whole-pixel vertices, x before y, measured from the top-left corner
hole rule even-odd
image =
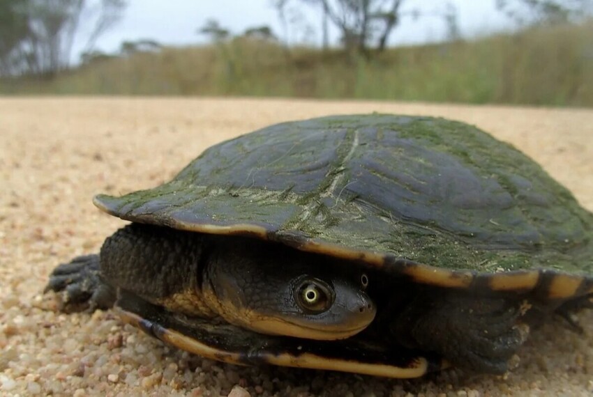
[[[62,293],[63,311],[109,309],[116,291],[100,277],[98,254],[77,256],[57,266],[50,275],[45,292]]]

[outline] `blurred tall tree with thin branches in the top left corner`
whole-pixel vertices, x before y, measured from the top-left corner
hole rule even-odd
[[[125,8],[123,0],[16,0],[3,1],[2,15],[11,20],[11,45],[0,52],[3,75],[54,75],[70,65],[75,39],[87,32],[84,53],[112,28]],[[6,14],[5,14],[6,12]],[[80,29],[83,26],[84,29]],[[9,48],[10,47],[10,48]]]

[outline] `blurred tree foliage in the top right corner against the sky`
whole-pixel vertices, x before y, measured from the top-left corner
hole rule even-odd
[[[520,26],[563,24],[591,16],[593,0],[495,0]]]

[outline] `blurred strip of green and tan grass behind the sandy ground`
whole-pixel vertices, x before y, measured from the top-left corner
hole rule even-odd
[[[238,38],[107,59],[51,81],[0,81],[0,93],[253,95],[593,107],[593,21],[515,35],[389,49],[338,50]]]

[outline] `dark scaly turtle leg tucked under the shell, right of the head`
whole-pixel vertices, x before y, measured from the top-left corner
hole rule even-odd
[[[392,329],[407,347],[437,352],[468,371],[501,374],[527,338],[519,317],[519,302],[445,291],[419,294]]]

